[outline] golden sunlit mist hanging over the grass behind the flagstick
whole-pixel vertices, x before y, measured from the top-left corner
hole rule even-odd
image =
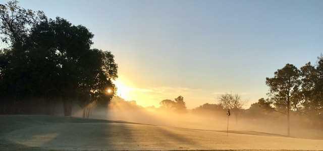
[[[76,112],[75,116],[81,116]],[[126,101],[113,97],[107,108],[95,108],[90,118],[122,120],[159,126],[171,126],[204,130],[227,130],[226,110],[187,109],[185,113],[160,107],[142,107],[135,101]],[[253,113],[246,109],[235,119],[234,113],[229,117],[229,131],[235,133],[253,134],[262,132],[263,135],[287,136],[286,116],[278,112],[268,114]],[[292,114],[291,137],[323,139],[323,128],[315,125],[303,115]]]

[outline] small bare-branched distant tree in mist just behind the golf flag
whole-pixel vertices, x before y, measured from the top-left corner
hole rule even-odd
[[[219,97],[219,102],[224,106],[226,109],[230,109],[233,111],[236,117],[236,123],[238,122],[238,116],[244,105],[244,101],[241,100],[241,97],[238,94],[222,94]]]

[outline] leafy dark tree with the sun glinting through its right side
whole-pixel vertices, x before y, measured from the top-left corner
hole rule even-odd
[[[118,66],[114,61],[111,52],[91,49],[80,61],[81,78],[78,82],[79,105],[83,108],[83,115],[86,110],[91,110],[93,105],[107,107],[107,103],[115,94],[116,86],[112,83],[117,75]],[[110,89],[112,92],[107,92]]]

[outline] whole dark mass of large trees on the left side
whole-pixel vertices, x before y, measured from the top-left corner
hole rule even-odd
[[[111,52],[91,48],[86,27],[10,1],[0,5],[0,34],[0,114],[52,114],[62,102],[65,116],[74,103],[85,116],[88,104],[111,100],[118,66]]]

